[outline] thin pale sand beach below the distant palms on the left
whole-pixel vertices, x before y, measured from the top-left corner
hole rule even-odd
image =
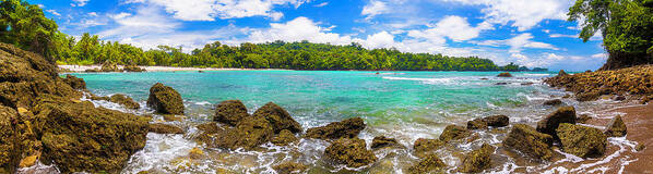
[[[59,69],[67,69],[73,72],[84,72],[92,69],[100,69],[100,65],[58,65]],[[174,67],[174,66],[139,66],[147,72],[177,72],[177,71],[251,71],[251,70],[276,70],[276,69],[213,69],[213,67]],[[122,65],[118,65],[122,69]]]

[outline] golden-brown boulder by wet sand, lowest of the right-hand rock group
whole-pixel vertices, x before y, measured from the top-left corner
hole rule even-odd
[[[580,158],[595,158],[605,153],[607,136],[598,128],[562,123],[556,129],[562,151]]]

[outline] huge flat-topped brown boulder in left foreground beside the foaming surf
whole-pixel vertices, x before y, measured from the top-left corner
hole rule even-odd
[[[62,173],[118,173],[145,146],[149,126],[144,117],[95,108],[87,101],[44,102],[37,110],[41,162],[54,162]]]

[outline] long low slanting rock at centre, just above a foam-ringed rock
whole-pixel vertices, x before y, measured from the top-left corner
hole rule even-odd
[[[358,137],[365,123],[360,117],[347,119],[341,122],[329,123],[325,126],[313,127],[306,130],[307,138],[316,139],[340,139]]]

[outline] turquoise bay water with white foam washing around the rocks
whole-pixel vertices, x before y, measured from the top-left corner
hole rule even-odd
[[[560,98],[563,91],[542,84],[542,78],[554,73],[513,73],[512,78],[495,77],[499,72],[313,72],[313,71],[215,71],[215,72],[150,72],[74,74],[84,78],[87,88],[100,96],[127,94],[145,105],[149,88],[163,83],[177,89],[187,107],[186,119],[167,122],[187,129],[185,135],[149,134],[145,148],[136,152],[123,173],[149,171],[154,173],[274,173],[272,166],[284,161],[309,165],[308,173],[403,173],[418,159],[412,156],[417,138],[437,138],[448,124],[464,125],[466,121],[492,114],[510,116],[511,124],[534,125],[543,115],[555,110],[542,103]],[[480,78],[488,78],[487,80]],[[508,83],[508,85],[495,85]],[[522,85],[534,83],[533,85]],[[209,149],[193,140],[194,125],[212,120],[211,108],[223,100],[238,99],[250,113],[269,101],[285,108],[302,127],[325,125],[343,119],[360,116],[368,124],[360,138],[371,144],[375,136],[396,138],[406,149],[379,150],[379,161],[364,169],[332,166],[322,160],[326,141],[301,139],[288,147],[264,145],[262,151],[228,151]],[[609,117],[617,113],[602,112],[624,105],[610,100],[577,102],[562,99],[579,113]],[[124,110],[120,105],[94,101],[96,105],[123,110],[135,114],[151,113]],[[155,116],[154,122],[165,122]],[[452,144],[438,154],[455,172],[461,153],[478,148],[483,142],[498,146],[509,130],[477,132],[479,139]],[[492,156],[495,164],[488,173],[532,172],[602,172],[602,161],[632,161],[619,156],[631,150],[631,141],[610,139],[612,153],[602,159],[574,159],[559,154],[556,163],[533,162],[514,152],[498,148]],[[608,149],[609,149],[608,147]],[[201,157],[190,157],[193,148]]]

